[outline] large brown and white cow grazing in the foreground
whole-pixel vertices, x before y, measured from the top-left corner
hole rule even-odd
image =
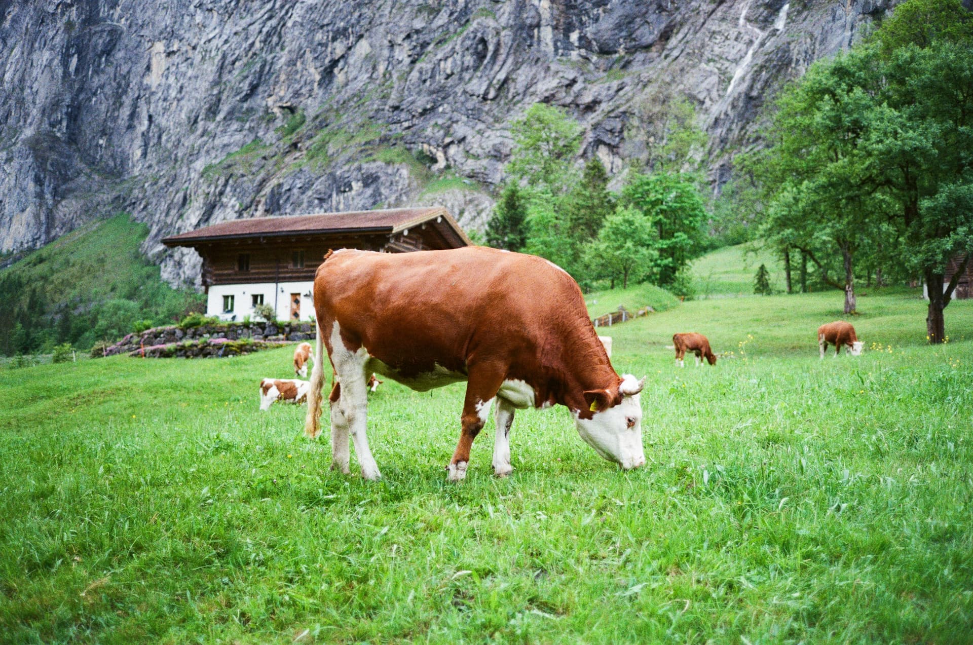
[[[588,318],[577,283],[547,260],[479,246],[375,253],[342,249],[314,278],[317,346],[305,433],[320,433],[324,348],[331,390],[332,468],[348,472],[348,434],[362,476],[380,477],[366,436],[366,376],[425,391],[463,381],[466,398],[451,481],[495,404],[493,472],[510,474],[514,411],[566,406],[581,438],[624,469],[645,463],[638,393],[619,376]]]

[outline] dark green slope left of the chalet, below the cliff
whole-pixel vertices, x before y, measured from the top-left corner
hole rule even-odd
[[[90,347],[127,334],[136,320],[170,323],[203,304],[203,296],[162,282],[139,251],[147,233],[121,214],[0,269],[0,353],[50,351],[65,341]]]

